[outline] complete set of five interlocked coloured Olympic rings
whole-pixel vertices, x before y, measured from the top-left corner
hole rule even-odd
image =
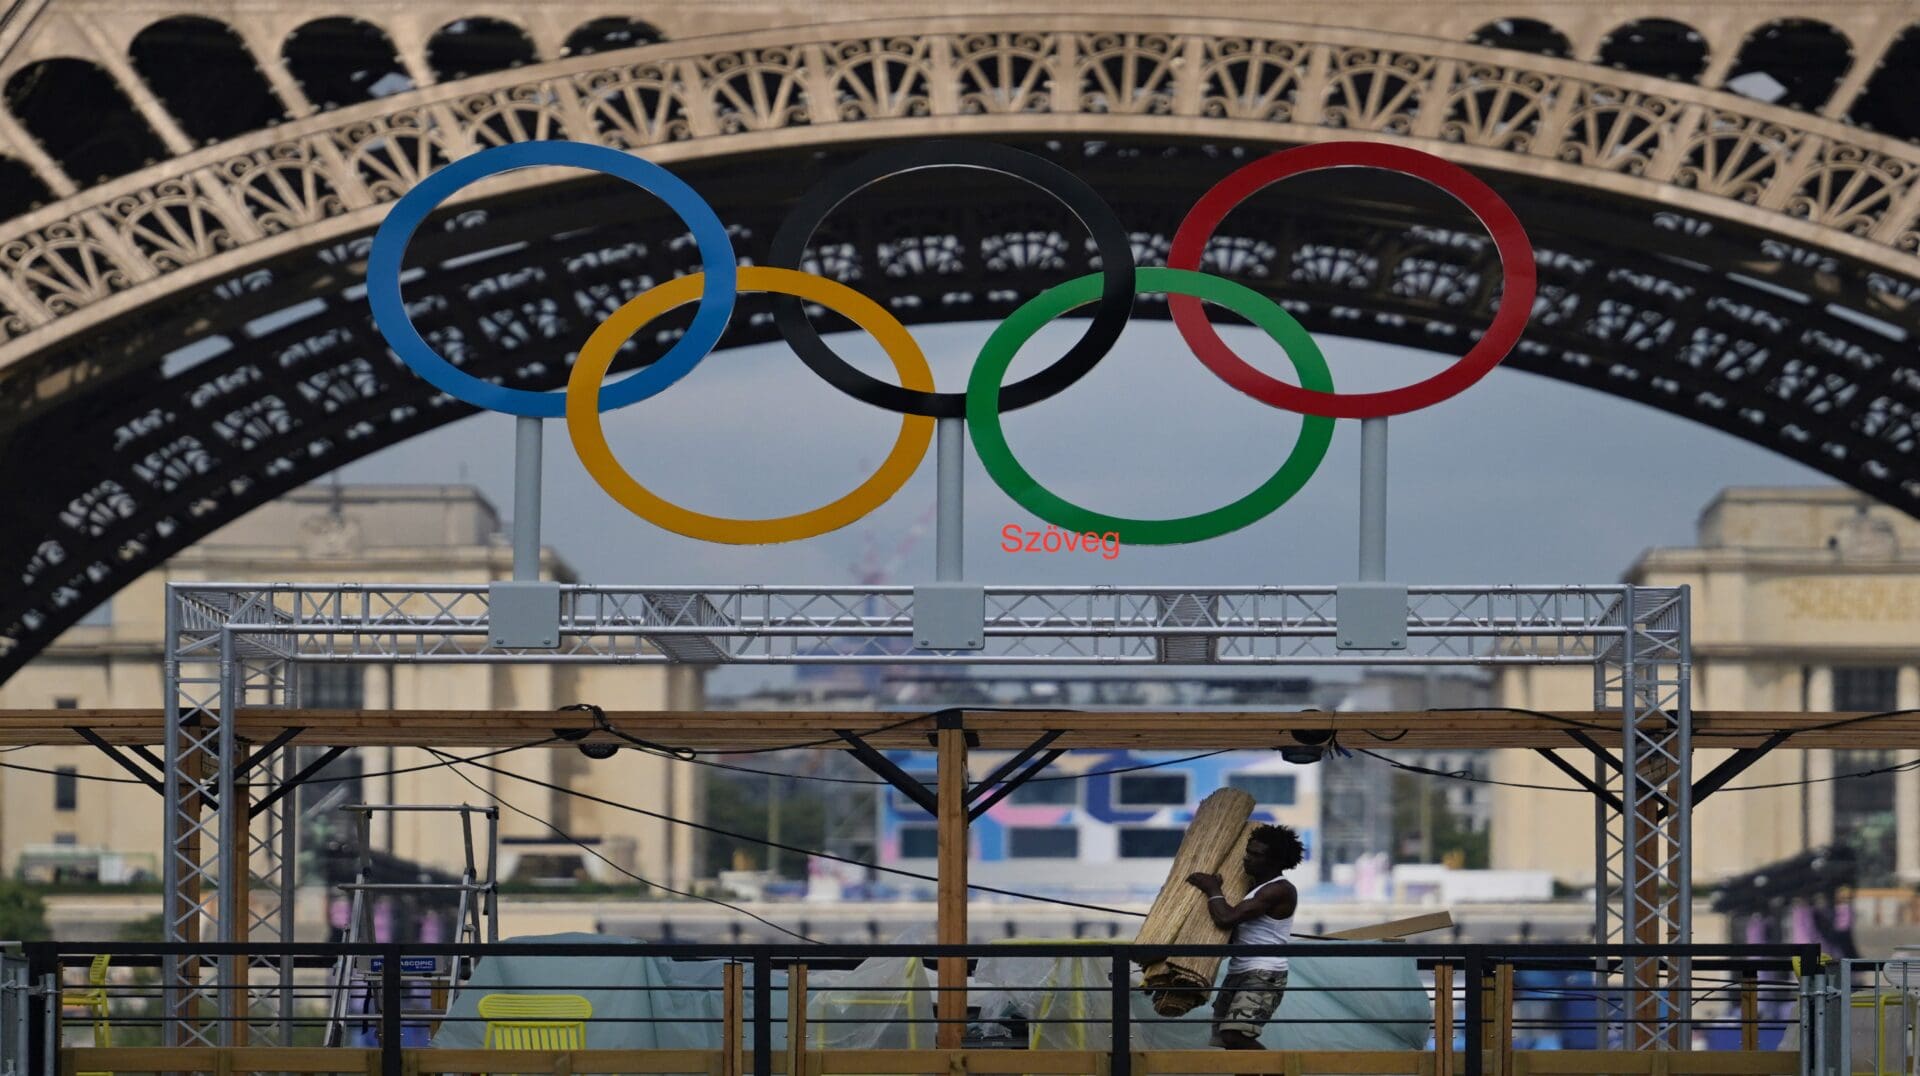
[[[420,223],[453,192],[480,179],[530,165],[599,171],[659,196],[693,234],[701,273],[678,277],[628,300],[582,344],[564,394],[507,388],[453,367],[420,336],[401,296],[401,261]],[[820,221],[866,186],[906,171],[966,167],[1020,179],[1058,198],[1092,234],[1100,271],[1041,292],[1000,323],[975,357],[966,392],[935,392],[933,371],[912,334],[883,306],[847,284],[799,269]],[[1334,392],[1319,346],[1290,313],[1260,292],[1200,271],[1206,244],[1225,215],[1281,179],[1329,167],[1375,167],[1427,181],[1459,200],[1494,240],[1501,263],[1501,302],[1480,340],[1442,373],[1388,392]],[[1010,146],[918,142],[872,152],[816,184],[781,223],[772,265],[739,267],[726,225],[714,209],[666,169],[641,158],[586,142],[513,142],[457,159],[422,179],[390,209],[367,259],[367,300],[394,354],[442,392],[476,407],[522,417],[564,417],[574,452],[601,488],[634,515],[666,530],[724,544],[772,544],[812,538],[847,526],[897,494],[918,471],[933,442],[935,419],[966,419],[981,463],[1006,494],[1037,517],[1069,532],[1119,532],[1127,544],[1202,542],[1248,526],[1286,503],[1325,461],[1336,419],[1400,415],[1438,404],[1486,377],[1519,342],[1532,315],[1534,250],[1513,209],[1484,183],[1440,158],[1377,142],[1332,142],[1271,154],[1240,167],[1208,190],[1181,221],[1167,269],[1137,267],[1133,242],[1112,208],[1064,167]],[[852,492],[822,507],[776,519],[728,519],[666,501],[641,486],[614,459],[601,411],[647,400],[685,377],[720,342],[739,290],[774,294],[774,325],[799,357],[849,396],[900,415],[887,459]],[[1173,323],[1194,355],[1229,386],[1302,415],[1300,436],[1281,467],[1233,503],[1177,519],[1104,515],[1043,488],[1006,444],[1000,413],[1046,400],[1087,375],[1119,340],[1137,290],[1165,292]],[[601,384],[614,354],[643,325],[699,302],[682,338],[651,365]],[[1277,340],[1298,386],[1269,377],[1236,355],[1208,321],[1202,302],[1225,306]],[[893,361],[900,384],[847,363],[806,321],[820,304],[872,334]],[[1020,348],[1064,313],[1096,304],[1081,338],[1041,373],[1002,386]]]

